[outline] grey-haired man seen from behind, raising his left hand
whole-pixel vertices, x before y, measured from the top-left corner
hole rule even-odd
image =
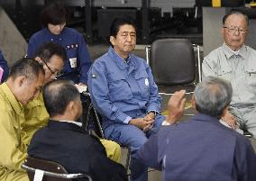
[[[256,155],[250,140],[219,122],[232,96],[229,82],[206,77],[191,100],[197,113],[177,122],[185,90],[176,92],[169,99],[166,119],[171,126],[151,136],[138,151],[139,158],[161,170],[163,181],[255,181]]]

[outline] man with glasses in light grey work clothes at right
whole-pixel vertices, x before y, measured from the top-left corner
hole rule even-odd
[[[203,77],[222,77],[232,84],[232,102],[221,122],[236,131],[248,130],[256,138],[256,50],[244,45],[248,25],[242,12],[226,14],[224,44],[206,56],[202,68]]]

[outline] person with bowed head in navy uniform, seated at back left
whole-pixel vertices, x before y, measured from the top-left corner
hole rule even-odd
[[[27,56],[32,58],[43,42],[59,43],[65,50],[67,58],[63,75],[59,79],[69,79],[75,84],[87,85],[87,71],[92,62],[83,36],[74,29],[65,27],[67,12],[63,5],[52,3],[41,14],[43,29],[32,35]]]

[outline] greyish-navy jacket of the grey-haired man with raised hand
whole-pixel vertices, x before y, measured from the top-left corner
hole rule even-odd
[[[255,181],[256,156],[251,142],[198,113],[187,122],[163,126],[140,150],[164,181]]]

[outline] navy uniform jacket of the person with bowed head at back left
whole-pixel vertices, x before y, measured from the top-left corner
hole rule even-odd
[[[83,36],[76,30],[67,27],[59,35],[54,35],[48,28],[44,28],[32,35],[28,45],[27,56],[33,58],[40,45],[49,41],[59,43],[66,50],[67,58],[63,68],[64,75],[60,78],[72,80],[74,83],[87,84],[87,71],[92,62]],[[74,66],[74,64],[71,66],[70,62],[74,61],[77,62],[77,66]]]

